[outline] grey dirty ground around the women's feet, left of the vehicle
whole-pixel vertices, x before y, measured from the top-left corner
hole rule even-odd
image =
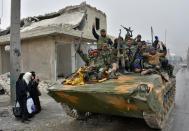
[[[23,124],[12,115],[12,109],[8,106],[8,99],[8,96],[0,95],[0,130],[51,131],[59,125],[73,121],[72,118],[65,114],[61,105],[47,95],[45,90],[42,91],[42,96],[40,97],[42,111],[34,116],[29,124]]]

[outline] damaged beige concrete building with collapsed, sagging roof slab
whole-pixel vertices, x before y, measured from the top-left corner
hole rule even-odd
[[[95,46],[92,24],[107,29],[106,15],[81,3],[44,16],[21,20],[22,72],[34,70],[41,79],[56,80],[75,72],[84,62],[75,52],[82,35],[82,48]],[[10,28],[0,32],[0,73],[10,71]]]

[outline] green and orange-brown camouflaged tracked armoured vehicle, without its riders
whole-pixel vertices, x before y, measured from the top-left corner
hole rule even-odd
[[[49,94],[71,116],[97,113],[143,118],[151,128],[162,129],[174,108],[175,83],[166,74],[130,74],[102,83],[57,86]]]

